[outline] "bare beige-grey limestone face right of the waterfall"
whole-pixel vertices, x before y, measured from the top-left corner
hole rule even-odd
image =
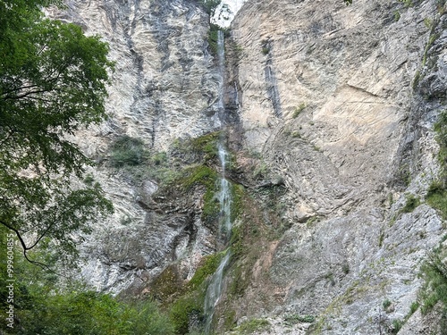
[[[308,333],[377,334],[409,314],[443,234],[432,208],[401,208],[438,172],[444,17],[432,1],[253,0],[233,21],[242,138],[288,189],[291,229],[268,270],[283,295],[258,316],[312,314]],[[262,305],[250,297],[240,314]]]

